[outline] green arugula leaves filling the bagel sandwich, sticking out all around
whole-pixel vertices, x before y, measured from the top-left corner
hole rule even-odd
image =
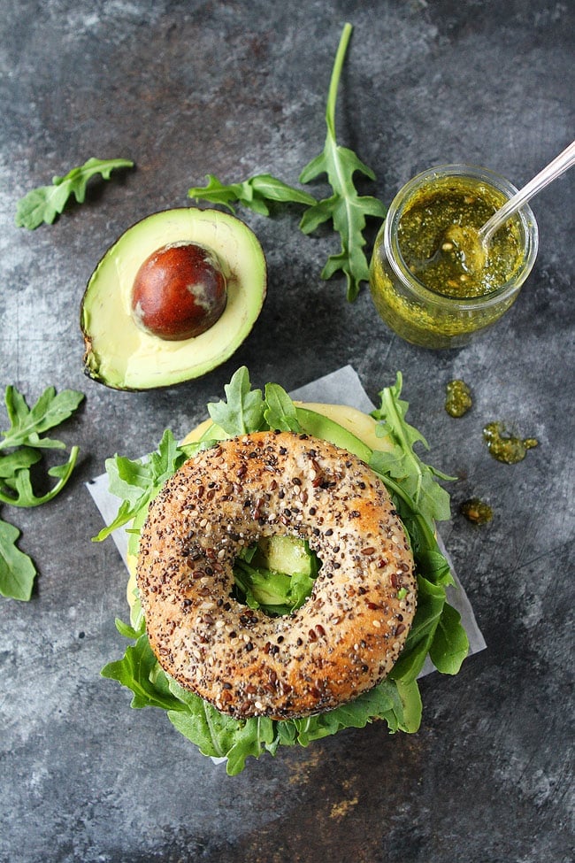
[[[392,495],[410,535],[418,577],[418,611],[402,655],[387,679],[355,701],[332,711],[298,720],[253,718],[235,720],[219,713],[200,697],[183,690],[159,667],[149,649],[145,623],[138,604],[134,606],[133,625],[117,621],[120,634],[133,643],[123,659],[103,668],[104,677],[120,682],[133,692],[132,706],[161,707],[181,734],[188,737],[204,755],[226,758],[228,774],[237,774],[249,756],[264,751],[272,755],[283,745],[306,746],[313,740],[335,734],[341,728],[363,728],[373,720],[385,720],[390,731],[415,732],[421,720],[418,674],[429,656],[443,674],[456,674],[469,650],[459,614],[446,598],[446,587],[453,583],[449,564],[435,538],[434,522],[449,517],[449,498],[434,477],[443,477],[427,466],[413,450],[414,443],[425,441],[405,420],[407,403],[400,398],[401,375],[395,386],[380,393],[381,405],[373,413],[381,435],[391,443],[391,452],[373,451],[370,465],[380,474]],[[251,389],[249,373],[240,368],[226,386],[226,401],[208,405],[216,424],[218,438],[267,428],[305,431],[288,393],[278,384],[268,384],[263,394]],[[160,478],[176,469],[181,461],[199,447],[210,446],[210,429],[199,443],[179,448],[173,437],[164,435],[157,453],[148,459],[128,462],[117,456],[109,459],[107,470],[111,490],[123,498],[116,526],[131,517],[142,523],[149,500],[157,493]],[[168,451],[170,453],[169,458]],[[107,536],[104,528],[97,538]],[[130,535],[132,551],[137,551],[137,530]],[[257,552],[249,550],[236,561],[236,584],[248,604],[267,613],[283,613],[301,605],[311,591],[317,567],[293,584],[285,574],[275,578],[257,565]],[[305,582],[305,583],[304,583]],[[287,607],[282,607],[283,605]]]

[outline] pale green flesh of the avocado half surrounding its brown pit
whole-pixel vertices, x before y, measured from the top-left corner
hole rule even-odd
[[[134,322],[131,298],[142,262],[167,243],[213,250],[226,276],[226,309],[201,335],[169,342]],[[180,207],[129,227],[91,275],[80,307],[84,371],[112,389],[156,389],[200,377],[225,362],[254,326],[265,300],[267,267],[256,235],[219,210]]]

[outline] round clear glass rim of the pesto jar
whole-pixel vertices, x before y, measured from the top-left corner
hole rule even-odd
[[[527,276],[533,269],[537,250],[539,246],[539,230],[537,222],[533,215],[533,211],[528,204],[524,204],[520,210],[514,215],[518,217],[521,229],[523,232],[523,250],[525,252],[521,266],[518,268],[508,281],[505,281],[500,288],[490,291],[481,297],[449,297],[449,295],[441,294],[433,288],[428,288],[423,281],[420,281],[416,275],[411,273],[409,267],[403,259],[402,251],[399,247],[397,227],[399,221],[405,212],[407,204],[414,194],[426,185],[429,181],[441,180],[449,177],[469,178],[474,181],[483,181],[491,186],[496,191],[502,192],[506,198],[515,195],[517,188],[506,177],[503,177],[489,168],[476,165],[465,165],[463,163],[449,163],[445,165],[436,165],[427,168],[425,171],[417,173],[410,181],[405,183],[397,192],[393,201],[388,207],[387,218],[384,223],[383,242],[386,251],[387,262],[394,270],[396,277],[402,281],[405,289],[412,292],[417,291],[420,299],[433,302],[440,305],[444,309],[453,309],[455,307],[472,312],[477,309],[486,309],[489,306],[498,304],[518,291],[522,286]]]

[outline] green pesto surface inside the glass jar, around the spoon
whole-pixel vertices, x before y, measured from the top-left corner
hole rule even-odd
[[[484,297],[501,288],[523,261],[517,220],[495,233],[487,251],[477,232],[505,200],[496,189],[461,177],[421,189],[398,226],[411,273],[446,297]]]

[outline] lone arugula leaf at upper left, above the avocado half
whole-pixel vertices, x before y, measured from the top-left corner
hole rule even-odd
[[[53,177],[51,186],[39,186],[19,199],[16,204],[16,226],[34,230],[45,222],[51,225],[61,213],[70,196],[82,204],[86,196],[88,180],[96,173],[104,180],[116,168],[132,168],[134,162],[126,158],[88,158],[80,167],[73,168],[64,177]]]

